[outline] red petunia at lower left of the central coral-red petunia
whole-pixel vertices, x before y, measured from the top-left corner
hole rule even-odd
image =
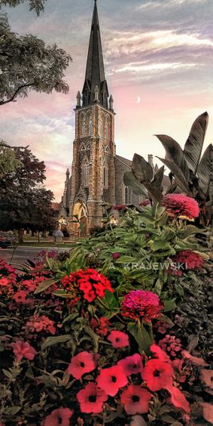
[[[88,383],[82,391],[77,393],[82,413],[102,413],[103,403],[107,399],[107,394],[95,383]]]

